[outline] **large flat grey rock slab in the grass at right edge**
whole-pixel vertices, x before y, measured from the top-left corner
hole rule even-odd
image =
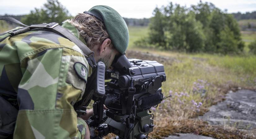
[[[239,90],[228,93],[226,100],[213,105],[200,119],[210,124],[229,124],[240,129],[256,128],[256,92]]]

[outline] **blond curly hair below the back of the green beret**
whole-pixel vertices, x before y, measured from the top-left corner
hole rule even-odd
[[[67,22],[79,30],[80,35],[89,48],[97,44],[102,44],[105,39],[109,38],[104,23],[92,15],[79,13],[73,19],[67,20]],[[112,46],[111,43],[110,47]]]

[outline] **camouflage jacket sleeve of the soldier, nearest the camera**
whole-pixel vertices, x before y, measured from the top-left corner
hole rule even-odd
[[[84,78],[75,63],[85,67]],[[73,105],[82,98],[87,69],[83,55],[69,48],[46,49],[22,59],[14,138],[83,138],[87,124],[77,119]]]

